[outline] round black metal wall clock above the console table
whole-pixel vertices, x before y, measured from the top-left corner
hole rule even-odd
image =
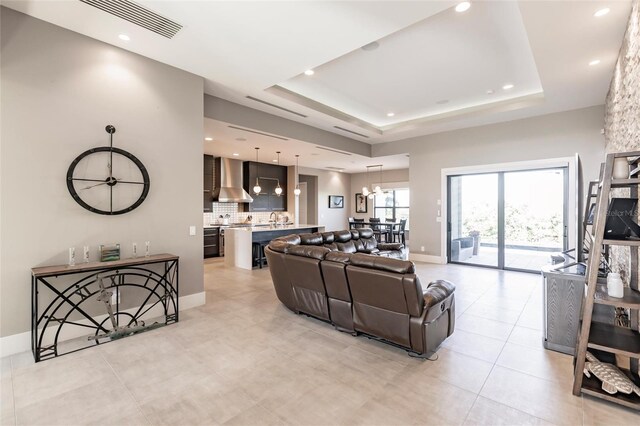
[[[109,146],[91,148],[76,157],[67,171],[67,188],[73,199],[90,212],[118,215],[142,204],[151,182],[140,160],[113,147],[116,128],[108,125],[105,130]]]

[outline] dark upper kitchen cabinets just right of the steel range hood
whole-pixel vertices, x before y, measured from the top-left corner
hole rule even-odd
[[[242,167],[244,190],[253,197],[253,203],[244,204],[244,211],[277,212],[287,210],[287,168],[285,166],[245,161]],[[256,177],[262,188],[258,195],[253,192]],[[276,195],[278,182],[282,188],[282,195],[279,197]]]

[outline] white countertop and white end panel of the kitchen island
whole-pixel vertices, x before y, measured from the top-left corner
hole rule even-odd
[[[224,263],[226,266],[253,269],[254,242],[271,241],[285,235],[309,232],[324,232],[324,226],[312,224],[231,226],[225,230]]]

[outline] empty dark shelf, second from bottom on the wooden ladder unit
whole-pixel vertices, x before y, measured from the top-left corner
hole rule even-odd
[[[587,347],[640,358],[640,334],[628,328],[592,322]]]

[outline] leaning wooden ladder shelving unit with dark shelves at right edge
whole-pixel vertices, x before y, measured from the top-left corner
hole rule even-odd
[[[640,386],[640,378],[637,375],[638,359],[640,359],[640,333],[638,333],[638,312],[640,310],[640,292],[638,292],[638,247],[640,238],[625,240],[605,239],[605,224],[611,198],[611,190],[614,188],[629,188],[630,197],[638,197],[640,178],[613,179],[613,166],[616,159],[625,158],[631,165],[637,167],[640,152],[626,152],[607,155],[604,167],[601,168],[600,179],[597,185],[596,207],[594,221],[589,230],[584,227],[585,241],[589,242],[589,256],[587,258],[587,289],[582,306],[582,321],[580,335],[576,346],[575,371],[573,382],[574,395],[581,393],[614,402],[625,407],[640,410],[640,396],[618,392],[609,394],[602,390],[602,382],[594,375],[588,378],[584,375],[584,365],[587,350],[602,352],[609,358],[606,362],[615,359],[614,355],[628,357],[631,369],[620,368],[636,385]],[[593,186],[589,186],[588,200],[593,198]],[[588,202],[586,211],[591,202]],[[637,218],[634,218],[637,220]],[[603,253],[607,256],[615,256],[609,250],[612,246],[628,247],[630,254],[629,288],[625,288],[622,298],[609,297],[602,279],[598,279],[599,269],[602,264]],[[607,259],[608,260],[608,259]],[[593,321],[594,305],[608,305],[629,309],[631,328],[619,327],[612,324],[604,324]],[[604,360],[603,360],[604,361]]]

